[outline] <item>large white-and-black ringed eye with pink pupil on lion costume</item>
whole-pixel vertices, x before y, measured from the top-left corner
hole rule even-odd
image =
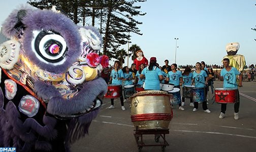
[[[33,31],[33,51],[43,62],[61,64],[68,50],[65,39],[52,31]]]

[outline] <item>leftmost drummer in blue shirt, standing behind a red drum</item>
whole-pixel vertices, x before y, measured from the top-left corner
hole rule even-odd
[[[114,69],[112,69],[111,74],[110,74],[110,80],[109,84],[112,85],[122,85],[122,79],[123,79],[123,71],[120,69],[121,63],[119,61],[114,62]],[[109,106],[109,109],[115,108],[114,106],[114,99],[111,100],[111,105]],[[121,95],[120,97],[121,101],[121,108],[122,110],[125,110],[124,104],[123,104],[123,96]]]

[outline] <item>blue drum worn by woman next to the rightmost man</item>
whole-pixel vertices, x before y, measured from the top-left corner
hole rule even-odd
[[[193,101],[194,102],[198,102],[198,103],[202,103],[204,101],[206,101],[206,88],[202,87],[202,88],[192,88],[193,91]]]

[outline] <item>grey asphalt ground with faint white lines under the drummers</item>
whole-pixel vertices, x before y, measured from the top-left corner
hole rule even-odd
[[[189,101],[185,110],[174,106],[174,117],[169,125],[165,151],[256,151],[256,82],[243,82],[240,92],[239,120],[234,120],[234,104],[228,104],[226,117],[219,119],[220,104],[213,103],[208,94],[206,113],[199,104],[192,111]],[[222,82],[214,81],[214,88],[222,88]],[[103,100],[98,117],[91,123],[89,134],[71,146],[72,151],[138,151],[131,122],[129,102],[121,110],[119,99],[115,109],[108,109],[110,99]],[[154,143],[154,135],[143,135],[146,144]],[[163,139],[159,139],[162,143]],[[142,151],[162,151],[161,146],[143,146]]]

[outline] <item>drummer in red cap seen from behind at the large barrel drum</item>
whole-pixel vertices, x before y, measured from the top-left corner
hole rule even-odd
[[[144,68],[140,74],[140,78],[145,78],[145,90],[160,90],[160,81],[162,81],[163,73],[156,65],[156,57],[151,57],[149,66]]]

